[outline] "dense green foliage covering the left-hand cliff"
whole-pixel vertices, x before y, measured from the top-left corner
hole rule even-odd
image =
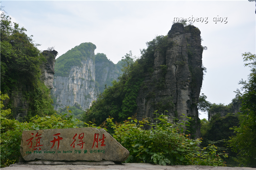
[[[8,94],[22,91],[22,97],[28,102],[26,120],[29,120],[35,115],[53,114],[54,110],[50,91],[39,80],[40,65],[46,62],[46,56],[36,48],[39,44],[34,44],[33,36],[29,37],[26,31],[1,13],[1,91]],[[11,108],[12,101],[9,102],[6,107]]]

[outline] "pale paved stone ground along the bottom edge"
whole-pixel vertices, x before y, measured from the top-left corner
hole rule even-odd
[[[121,165],[19,165],[12,164],[1,170],[256,170],[248,167],[221,166],[160,166],[144,163],[127,163]]]

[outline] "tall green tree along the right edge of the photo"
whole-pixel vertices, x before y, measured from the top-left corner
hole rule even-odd
[[[256,167],[256,55],[242,54],[244,66],[251,68],[248,80],[243,79],[238,83],[243,85],[241,91],[236,90],[242,101],[239,115],[239,126],[232,128],[236,136],[231,137],[229,146],[238,153],[237,161],[240,166]]]

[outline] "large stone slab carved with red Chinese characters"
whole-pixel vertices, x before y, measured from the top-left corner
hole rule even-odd
[[[26,161],[125,161],[129,151],[106,130],[96,128],[44,129],[22,132],[20,153]]]

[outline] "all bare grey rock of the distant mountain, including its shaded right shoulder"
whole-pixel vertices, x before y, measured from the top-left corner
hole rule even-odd
[[[105,84],[112,85],[111,81],[121,74],[106,55],[104,59],[97,60],[94,49],[89,50],[89,54],[86,61],[81,61],[82,67],[71,67],[68,77],[54,76],[51,94],[57,99],[55,110],[68,105],[72,107],[75,103],[83,110],[90,108],[97,94],[103,92]]]

